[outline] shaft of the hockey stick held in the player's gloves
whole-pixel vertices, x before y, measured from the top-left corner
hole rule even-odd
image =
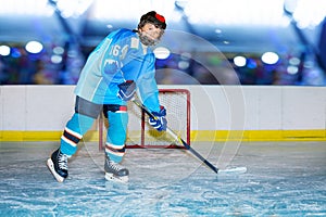
[[[134,99],[133,102],[140,107],[146,114],[148,114],[150,117],[158,119],[156,116],[154,116],[141,102]],[[208,159],[205,159],[201,154],[199,154],[196,150],[193,150],[185,140],[183,140],[179,136],[177,136],[172,129],[168,127],[166,128],[166,132],[170,133],[176,141],[178,141],[180,144],[183,144],[188,151],[190,151],[195,156],[197,156],[200,161],[202,161],[205,165],[208,165],[213,171],[216,174],[218,173],[218,168],[213,166]]]

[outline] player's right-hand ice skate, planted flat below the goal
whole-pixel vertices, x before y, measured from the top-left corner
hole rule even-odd
[[[117,163],[114,163],[105,155],[104,163],[105,179],[109,181],[128,182],[129,170]]]

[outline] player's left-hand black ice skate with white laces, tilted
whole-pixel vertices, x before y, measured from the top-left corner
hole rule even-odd
[[[60,149],[58,149],[47,161],[47,166],[59,182],[63,182],[68,176],[67,158],[68,156],[61,153]]]

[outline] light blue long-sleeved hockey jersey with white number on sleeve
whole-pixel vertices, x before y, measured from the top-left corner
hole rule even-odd
[[[125,80],[136,82],[138,95],[149,110],[160,111],[155,56],[137,33],[123,28],[106,36],[90,53],[75,94],[97,104],[125,105],[117,97],[117,85]]]

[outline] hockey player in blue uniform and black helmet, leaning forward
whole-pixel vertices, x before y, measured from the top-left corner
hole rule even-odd
[[[160,105],[155,81],[155,58],[151,47],[164,34],[164,16],[155,11],[143,14],[137,29],[118,29],[106,36],[88,56],[75,88],[75,113],[67,122],[60,148],[47,165],[62,182],[68,176],[67,161],[77,144],[103,111],[109,119],[105,143],[105,179],[128,181],[129,171],[120,163],[125,154],[128,123],[127,101],[136,89],[142,103],[158,117],[149,123],[156,130],[166,129],[166,111]]]

